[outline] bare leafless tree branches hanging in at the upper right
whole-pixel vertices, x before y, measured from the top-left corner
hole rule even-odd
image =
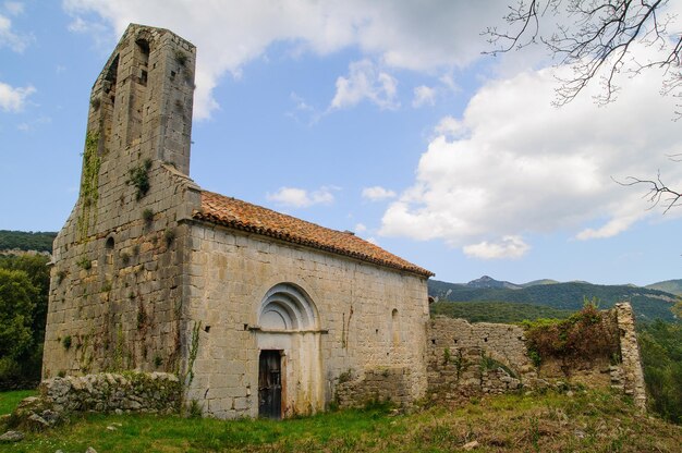
[[[498,54],[541,42],[557,58],[558,64],[572,68],[572,76],[560,79],[555,103],[565,105],[597,78],[602,91],[597,102],[616,99],[618,76],[636,76],[643,71],[662,70],[661,93],[682,97],[682,34],[671,32],[675,19],[666,12],[669,0],[517,0],[504,16],[507,30],[489,27],[485,34]],[[553,20],[552,20],[553,19]],[[682,19],[681,19],[682,20]],[[550,24],[547,24],[547,22]],[[545,30],[548,25],[550,33]],[[651,51],[646,61],[634,57],[637,46]],[[682,118],[682,106],[674,112]],[[671,156],[680,160],[682,155]],[[653,207],[662,204],[665,211],[679,206],[680,191],[660,179],[628,177],[621,185],[649,187]]]

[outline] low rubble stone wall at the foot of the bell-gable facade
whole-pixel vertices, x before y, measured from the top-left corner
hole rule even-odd
[[[180,411],[182,402],[182,383],[166,372],[52,378],[38,389],[39,396],[19,404],[10,425],[39,430],[57,425],[69,414],[85,412],[171,414]]]

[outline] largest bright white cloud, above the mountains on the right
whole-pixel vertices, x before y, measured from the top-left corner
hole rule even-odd
[[[550,106],[556,75],[541,70],[489,81],[461,119],[443,118],[416,181],[386,210],[380,234],[510,257],[527,250],[528,234],[609,237],[653,213],[645,187],[612,177],[661,169],[663,181],[682,186],[682,166],[666,157],[682,149],[682,135],[671,121],[675,99],[659,96],[661,74],[622,81],[619,101],[606,107],[593,103],[595,85],[561,109]]]

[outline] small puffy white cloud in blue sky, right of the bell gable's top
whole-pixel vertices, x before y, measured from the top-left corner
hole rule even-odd
[[[348,77],[337,78],[337,93],[329,108],[344,109],[366,99],[381,109],[393,109],[399,106],[397,93],[398,81],[394,77],[367,59],[355,61],[349,66]]]

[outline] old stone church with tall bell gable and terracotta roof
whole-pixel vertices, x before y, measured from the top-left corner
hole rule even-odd
[[[94,84],[80,196],[54,241],[44,379],[173,372],[221,418],[315,413],[366,396],[363,382],[422,397],[433,273],[198,186],[195,54],[130,25]]]

